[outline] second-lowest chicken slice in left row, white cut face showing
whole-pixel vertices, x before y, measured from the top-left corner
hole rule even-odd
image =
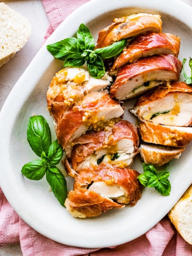
[[[133,206],[140,199],[143,188],[137,179],[139,175],[135,170],[120,169],[112,164],[91,165],[78,172],[74,190],[88,189],[119,204]]]

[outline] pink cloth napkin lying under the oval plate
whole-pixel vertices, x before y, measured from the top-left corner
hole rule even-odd
[[[42,0],[50,20],[44,36],[71,12],[89,0]],[[139,228],[139,227],[138,227]],[[23,256],[191,256],[192,245],[186,243],[167,216],[137,239],[113,248],[86,249],[57,243],[28,226],[13,210],[0,188],[0,247],[20,242]]]

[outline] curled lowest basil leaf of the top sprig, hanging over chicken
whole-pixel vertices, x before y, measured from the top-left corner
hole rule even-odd
[[[90,76],[94,78],[102,78],[105,75],[105,68],[103,60],[97,56],[96,60],[92,62],[90,59],[87,60],[87,67],[89,70]]]

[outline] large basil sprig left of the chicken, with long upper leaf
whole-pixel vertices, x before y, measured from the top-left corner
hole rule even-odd
[[[50,127],[43,116],[31,116],[27,129],[27,140],[30,147],[40,159],[24,164],[21,172],[30,180],[46,179],[62,206],[67,197],[67,182],[56,166],[59,164],[63,149],[57,140],[51,142]]]

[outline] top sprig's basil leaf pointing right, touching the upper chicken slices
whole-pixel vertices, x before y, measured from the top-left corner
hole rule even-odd
[[[119,55],[127,44],[127,40],[115,42],[107,47],[95,49],[95,53],[102,59],[110,59]]]

